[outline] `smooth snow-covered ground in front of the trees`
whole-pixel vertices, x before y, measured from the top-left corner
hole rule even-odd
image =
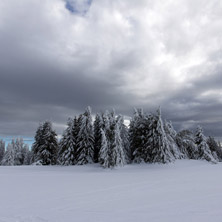
[[[0,167],[0,222],[222,221],[222,164]]]

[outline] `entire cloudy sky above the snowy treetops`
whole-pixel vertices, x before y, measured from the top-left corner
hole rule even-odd
[[[222,136],[221,0],[1,0],[0,136],[90,105]]]

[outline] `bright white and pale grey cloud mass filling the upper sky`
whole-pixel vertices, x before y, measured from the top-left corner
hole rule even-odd
[[[81,71],[112,84],[109,95],[132,95],[132,106],[158,106],[189,92],[199,99],[209,91],[194,87],[221,65],[221,1],[69,3],[80,13],[70,13],[63,0],[1,0],[0,66]]]

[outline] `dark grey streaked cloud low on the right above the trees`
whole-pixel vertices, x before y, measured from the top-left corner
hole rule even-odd
[[[221,68],[192,82],[164,101],[165,116],[174,122],[177,129],[205,128],[207,135],[221,138],[222,82]]]

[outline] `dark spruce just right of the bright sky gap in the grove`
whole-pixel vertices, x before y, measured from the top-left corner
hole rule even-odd
[[[142,109],[135,109],[129,125],[129,143],[132,161],[144,161],[144,146],[146,138],[146,121]]]

